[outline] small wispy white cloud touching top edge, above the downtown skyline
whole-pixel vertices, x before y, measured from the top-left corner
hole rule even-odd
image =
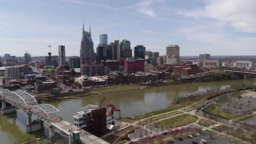
[[[166,0],[141,0],[140,2],[136,3],[134,6],[130,6],[130,8],[134,8],[138,11],[140,14],[145,14],[150,17],[157,17],[158,14],[156,14],[154,8],[152,7],[152,4],[155,2],[165,2]]]

